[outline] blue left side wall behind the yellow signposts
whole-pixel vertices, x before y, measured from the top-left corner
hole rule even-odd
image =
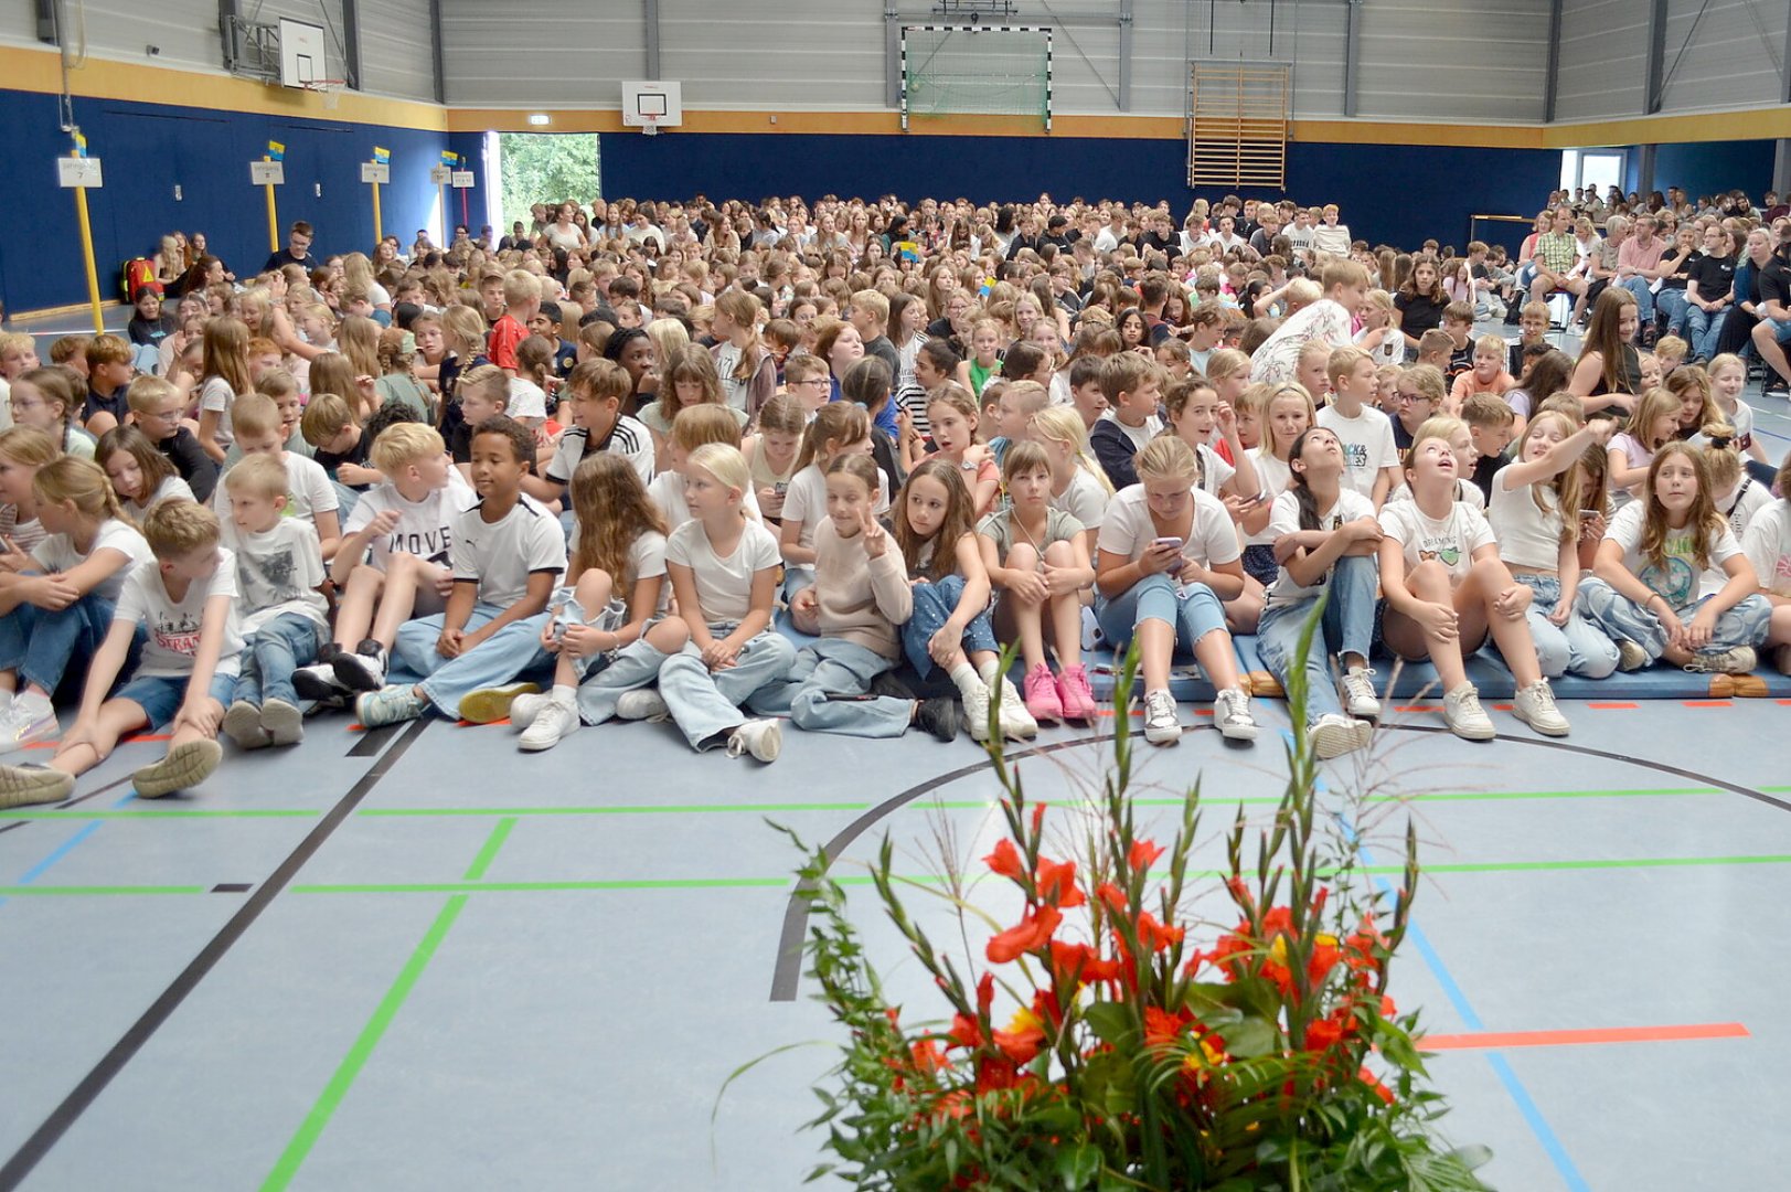
[[[317,251],[373,247],[373,197],[360,163],[373,147],[392,151],[392,181],[380,188],[381,224],[405,244],[428,222],[435,186],[428,172],[446,133],[224,113],[167,104],[75,100],[88,152],[106,186],[88,192],[100,298],[118,296],[118,265],[149,256],[165,231],[204,231],[213,253],[247,276],[267,260],[267,204],[249,185],[249,161],[267,142],[287,145],[287,185],[278,190],[285,226],[317,226]],[[11,168],[0,172],[0,301],[7,312],[86,301],[75,201],[56,185],[52,158],[68,152],[54,95],[0,91]],[[319,197],[317,186],[322,186]],[[181,188],[181,199],[174,188]]]

